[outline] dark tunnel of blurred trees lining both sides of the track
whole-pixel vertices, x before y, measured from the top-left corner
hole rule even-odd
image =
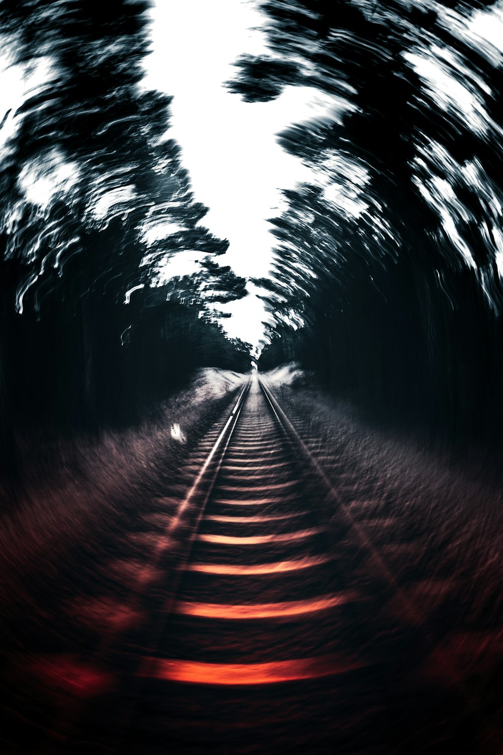
[[[259,367],[299,359],[379,419],[500,444],[501,54],[460,31],[494,4],[260,5],[268,54],[241,57],[228,88],[251,103],[309,86],[332,106],[278,137],[313,180],[271,220]],[[141,85],[148,8],[0,5],[2,49],[28,82],[0,113],[5,479],[18,432],[125,427],[198,366],[250,367],[215,311],[246,281],[201,224],[170,97]],[[442,99],[420,60],[470,107]],[[167,279],[188,253],[198,272]]]

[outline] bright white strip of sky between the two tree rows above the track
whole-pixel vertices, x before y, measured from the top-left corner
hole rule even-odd
[[[266,218],[281,207],[280,190],[308,180],[309,171],[287,155],[275,134],[326,111],[333,103],[312,88],[290,87],[268,103],[244,103],[222,87],[244,52],[265,50],[256,0],[159,0],[152,9],[153,51],[146,85],[172,94],[169,135],[182,147],[195,198],[210,208],[202,223],[230,247],[222,264],[238,275],[265,276],[274,237]],[[185,272],[181,258],[173,274]],[[182,268],[180,270],[180,268]],[[232,336],[256,344],[263,334],[262,302],[251,293],[222,307]]]

